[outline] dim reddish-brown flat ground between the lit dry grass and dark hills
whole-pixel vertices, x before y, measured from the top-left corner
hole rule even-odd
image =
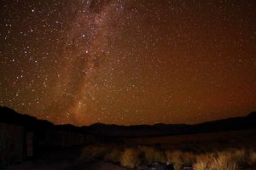
[[[256,148],[256,129],[217,133],[171,135],[152,138],[125,139],[125,144],[161,144],[165,149],[221,150],[227,148]],[[197,150],[199,151],[199,150]]]

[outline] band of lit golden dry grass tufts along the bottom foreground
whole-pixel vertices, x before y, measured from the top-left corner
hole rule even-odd
[[[182,150],[160,150],[153,146],[89,145],[81,155],[84,161],[104,159],[119,163],[123,167],[134,168],[141,164],[154,162],[172,163],[174,169],[183,166],[195,170],[240,170],[253,169],[256,166],[256,151],[245,149],[226,149],[194,153]]]

